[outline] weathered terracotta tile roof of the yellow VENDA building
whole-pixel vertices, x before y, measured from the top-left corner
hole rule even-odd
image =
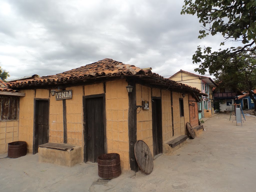
[[[56,75],[42,76],[34,79],[18,80],[10,82],[12,87],[26,87],[33,84],[46,85],[48,83],[60,84],[68,81],[82,81],[86,79],[95,79],[101,77],[120,77],[120,76],[137,76],[142,80],[157,82],[168,88],[179,88],[185,91],[192,91],[196,95],[201,95],[200,90],[188,86],[183,83],[178,83],[167,78],[159,76],[157,73],[152,73],[151,69],[143,70],[134,65],[127,65],[113,59],[105,58],[103,60],[91,63],[89,65],[81,66],[76,69],[71,69]]]

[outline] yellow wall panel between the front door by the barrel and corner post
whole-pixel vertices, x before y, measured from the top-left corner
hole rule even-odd
[[[130,169],[128,144],[128,83],[106,82],[106,129],[108,153],[120,155],[121,167]],[[101,89],[100,89],[101,90]]]

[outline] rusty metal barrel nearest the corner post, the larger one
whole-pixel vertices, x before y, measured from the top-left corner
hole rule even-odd
[[[121,175],[120,155],[102,154],[98,157],[98,175],[103,179],[112,179]]]

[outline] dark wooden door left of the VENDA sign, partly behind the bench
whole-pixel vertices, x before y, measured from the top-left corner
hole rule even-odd
[[[49,142],[49,101],[35,101],[35,134],[34,154],[38,146]]]

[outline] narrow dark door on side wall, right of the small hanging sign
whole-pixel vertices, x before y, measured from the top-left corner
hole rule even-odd
[[[155,156],[163,152],[161,99],[152,99],[152,134]]]

